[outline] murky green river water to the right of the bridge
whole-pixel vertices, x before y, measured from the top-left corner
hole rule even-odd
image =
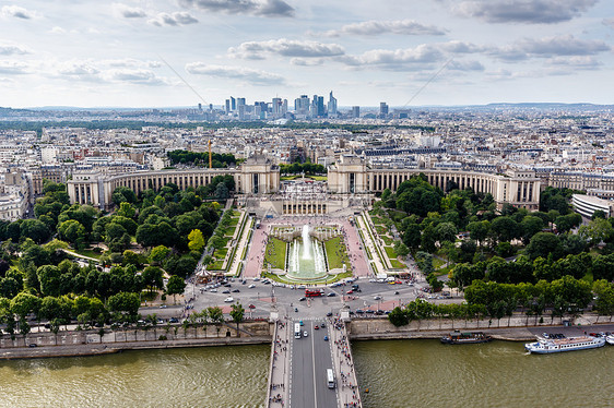
[[[355,341],[364,408],[612,407],[614,347],[550,356],[523,343]]]

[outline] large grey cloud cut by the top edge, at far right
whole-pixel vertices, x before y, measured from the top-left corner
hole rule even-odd
[[[487,23],[555,24],[569,21],[598,0],[471,0],[452,10]]]

